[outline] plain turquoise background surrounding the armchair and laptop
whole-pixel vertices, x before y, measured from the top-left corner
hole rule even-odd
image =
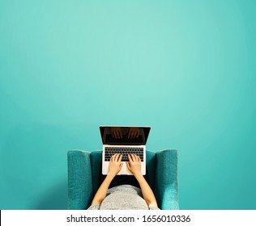
[[[256,1],[0,1],[0,208],[65,209],[100,124],[178,149],[181,209],[256,209]]]

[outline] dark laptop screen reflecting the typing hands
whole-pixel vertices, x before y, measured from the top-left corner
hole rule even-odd
[[[103,144],[145,145],[150,127],[100,126]]]

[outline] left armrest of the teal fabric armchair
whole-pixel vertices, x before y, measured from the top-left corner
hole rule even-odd
[[[84,210],[92,200],[92,169],[90,153],[72,150],[67,153],[68,203],[67,208]]]

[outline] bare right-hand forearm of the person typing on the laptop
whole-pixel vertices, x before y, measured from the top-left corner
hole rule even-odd
[[[151,187],[148,185],[147,181],[143,177],[143,174],[136,174],[134,176],[139,182],[140,189],[142,190],[143,193],[143,198],[145,199],[147,205],[157,207],[156,197],[153,191],[151,190]]]

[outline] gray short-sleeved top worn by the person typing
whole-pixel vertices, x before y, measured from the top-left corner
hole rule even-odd
[[[159,210],[147,206],[141,190],[136,186],[121,185],[109,188],[101,204],[93,204],[88,210]]]

